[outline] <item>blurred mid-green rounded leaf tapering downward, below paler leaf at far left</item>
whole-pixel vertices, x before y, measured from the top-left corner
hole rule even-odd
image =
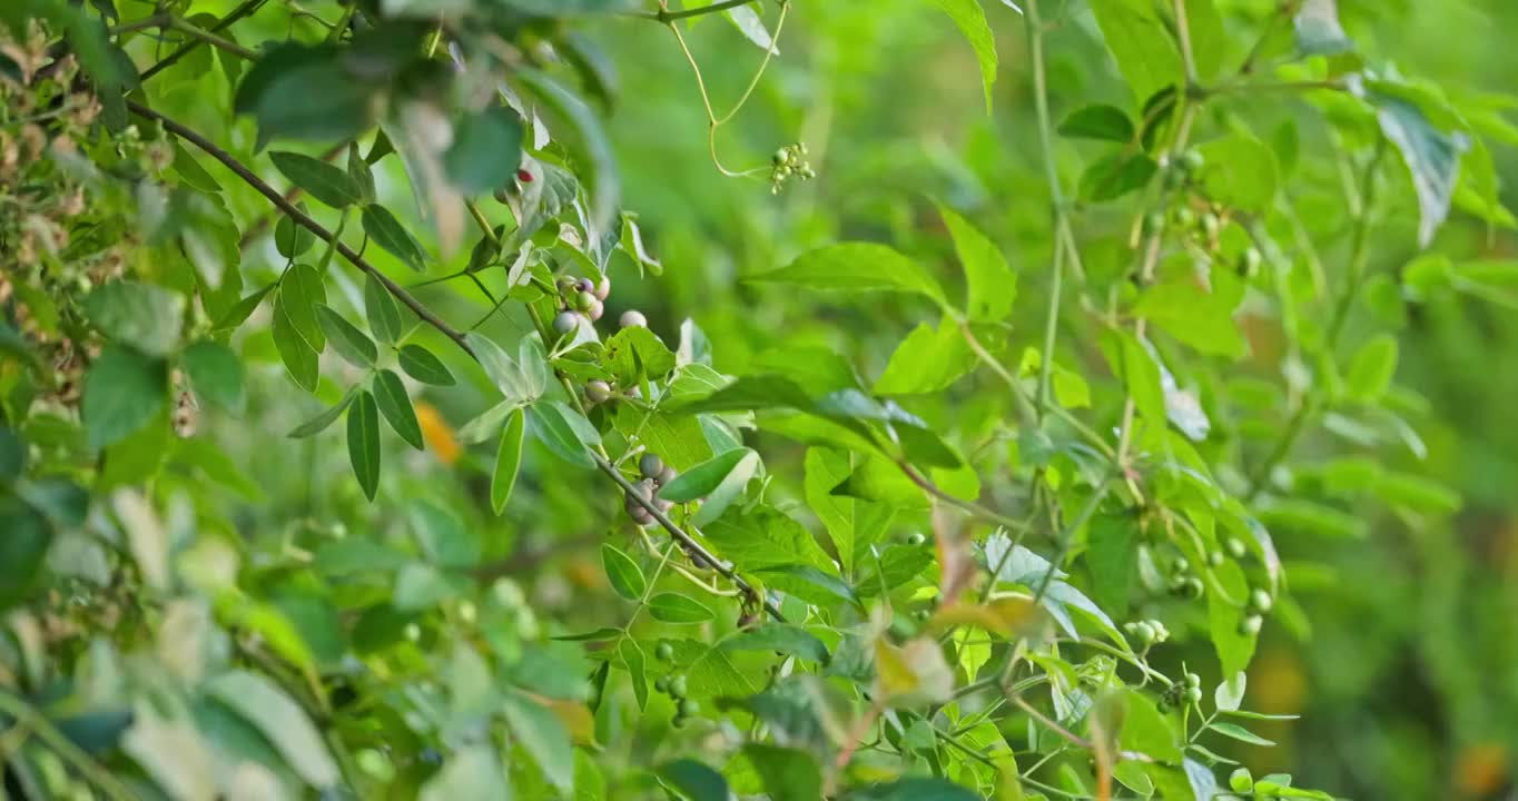
[[[108,344],[90,364],[82,411],[90,448],[118,443],[147,425],[168,399],[168,366],[138,350]]]

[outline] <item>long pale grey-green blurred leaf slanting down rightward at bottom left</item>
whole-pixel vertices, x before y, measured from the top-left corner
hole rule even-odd
[[[334,787],[342,780],[320,731],[279,686],[258,674],[232,671],[205,689],[261,731],[308,784]]]

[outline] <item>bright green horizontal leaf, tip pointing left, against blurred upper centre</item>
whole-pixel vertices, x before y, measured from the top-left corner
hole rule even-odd
[[[748,281],[791,284],[838,293],[917,293],[947,306],[944,291],[915,261],[874,243],[830,244],[803,253],[791,264],[750,276]]]

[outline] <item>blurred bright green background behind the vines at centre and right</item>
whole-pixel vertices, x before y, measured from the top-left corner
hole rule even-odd
[[[821,343],[877,375],[896,341],[926,309],[871,305],[846,311],[757,291],[739,276],[768,270],[832,238],[873,238],[903,249],[946,250],[934,197],[973,214],[1020,269],[1023,297],[1040,296],[1049,264],[1047,190],[1038,161],[1023,20],[987,0],[1000,70],[994,114],[985,112],[973,53],[953,24],[918,2],[797,3],[754,100],[718,134],[730,168],[767,164],[802,140],[820,176],[771,197],[762,179],[723,177],[706,158],[706,117],[672,36],[606,35],[622,100],[610,121],[630,208],[642,215],[660,281],[628,288],[656,331],[692,316],[713,340],[724,372],[753,367],[762,337]],[[1090,102],[1131,108],[1105,65],[1094,26],[1060,18],[1050,38],[1053,115]],[[1230,3],[1248,15],[1269,2]],[[1340,0],[1350,35],[1378,68],[1457,88],[1518,93],[1518,3],[1510,0]],[[774,20],[774,11],[767,12]],[[625,23],[610,23],[607,33]],[[1237,41],[1249,41],[1234,30]],[[736,99],[762,52],[713,18],[691,29],[718,114]],[[1305,108],[1301,102],[1296,108]],[[1290,108],[1292,103],[1286,102]],[[1304,149],[1312,146],[1304,129]],[[1494,147],[1518,203],[1518,141]],[[1073,185],[1081,155],[1063,143]],[[1406,190],[1406,187],[1403,188]],[[1451,217],[1441,244],[1454,253],[1512,258],[1510,231]],[[935,240],[935,241],[926,241]],[[1395,278],[1416,256],[1406,231],[1377,234],[1371,265]],[[1327,264],[1336,276],[1336,264]],[[1515,287],[1518,288],[1518,287]],[[1513,297],[1518,297],[1515,293]],[[1491,299],[1489,299],[1491,300]],[[1501,297],[1497,297],[1501,300]],[[1037,341],[1041,314],[1014,319],[1014,352]],[[1274,725],[1278,748],[1243,751],[1258,775],[1286,771],[1340,796],[1513,798],[1518,752],[1518,323],[1513,308],[1456,294],[1409,303],[1400,332],[1398,385],[1427,402],[1401,467],[1459,488],[1462,510],[1444,520],[1368,511],[1363,539],[1292,539],[1283,557],[1305,611],[1296,636],[1269,625],[1251,672],[1252,704],[1296,713]],[[1098,357],[1099,361],[1099,357]],[[1260,364],[1274,373],[1272,366]],[[1334,434],[1310,431],[1296,461],[1310,464]],[[767,443],[783,473],[785,443]],[[1342,446],[1342,443],[1339,443]],[[795,449],[798,454],[798,449]],[[1374,507],[1371,507],[1374,508]],[[1211,664],[1204,642],[1186,646]],[[1216,671],[1216,668],[1213,668]]]

